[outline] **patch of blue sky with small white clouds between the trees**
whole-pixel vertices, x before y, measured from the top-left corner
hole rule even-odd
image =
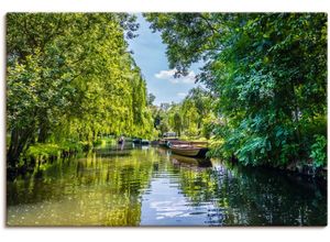
[[[146,80],[147,91],[156,96],[154,103],[182,101],[189,89],[198,86],[195,84],[198,65],[191,66],[188,76],[174,78],[175,70],[168,68],[166,45],[162,43],[160,32],[152,33],[150,23],[141,14],[138,14],[138,22],[139,36],[129,40],[129,48],[134,52],[133,57]]]

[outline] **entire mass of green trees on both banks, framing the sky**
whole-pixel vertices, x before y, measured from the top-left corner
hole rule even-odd
[[[327,16],[323,13],[147,13],[169,67],[204,62],[180,103],[153,106],[128,51],[123,13],[7,16],[8,162],[99,136],[213,136],[212,155],[243,164],[327,163]],[[155,129],[154,129],[155,128]],[[47,153],[47,154],[48,154]]]

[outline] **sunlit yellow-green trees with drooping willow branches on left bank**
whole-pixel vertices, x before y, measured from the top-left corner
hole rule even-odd
[[[11,167],[36,142],[91,145],[100,134],[152,134],[145,80],[125,41],[134,37],[134,20],[122,13],[7,15]]]

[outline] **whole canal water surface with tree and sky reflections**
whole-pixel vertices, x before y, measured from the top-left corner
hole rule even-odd
[[[7,183],[8,226],[326,226],[317,180],[161,147],[103,147]]]

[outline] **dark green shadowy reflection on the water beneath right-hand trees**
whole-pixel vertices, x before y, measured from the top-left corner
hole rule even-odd
[[[219,207],[229,206],[227,224],[327,224],[327,186],[316,179],[220,162],[212,177]]]

